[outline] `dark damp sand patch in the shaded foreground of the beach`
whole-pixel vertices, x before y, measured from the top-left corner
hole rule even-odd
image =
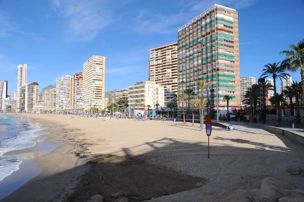
[[[140,201],[199,188],[206,180],[173,169],[145,163],[136,156],[102,155],[89,162],[92,170],[84,175],[66,201],[87,201],[95,194],[103,201],[116,201],[120,192],[129,201]]]

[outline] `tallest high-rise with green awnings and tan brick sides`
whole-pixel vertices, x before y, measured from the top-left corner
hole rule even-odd
[[[240,105],[239,23],[235,9],[213,5],[178,29],[178,93],[201,90],[197,80],[210,83],[215,90],[218,82],[219,106],[225,106],[225,95],[233,99],[231,106]],[[207,96],[207,94],[204,92]],[[183,106],[186,106],[183,101]]]

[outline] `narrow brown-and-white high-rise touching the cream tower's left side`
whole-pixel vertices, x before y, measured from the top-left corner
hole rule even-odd
[[[75,73],[73,77],[71,77],[71,95],[70,95],[70,108],[71,109],[79,109],[79,105],[77,106],[77,96],[82,97],[82,95],[79,95],[82,93],[82,88],[83,86],[83,73]]]

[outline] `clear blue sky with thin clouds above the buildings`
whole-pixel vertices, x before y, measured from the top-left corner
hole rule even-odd
[[[42,89],[101,55],[106,91],[126,88],[148,79],[149,49],[176,42],[177,29],[212,4],[239,12],[241,76],[258,78],[304,37],[302,0],[0,0],[0,80],[16,92],[17,66],[27,63],[27,82]]]

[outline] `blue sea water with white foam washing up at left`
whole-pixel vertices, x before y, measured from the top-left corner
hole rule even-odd
[[[0,114],[0,181],[19,169],[22,160],[18,155],[5,156],[8,151],[32,147],[35,132],[41,130],[28,118]]]

